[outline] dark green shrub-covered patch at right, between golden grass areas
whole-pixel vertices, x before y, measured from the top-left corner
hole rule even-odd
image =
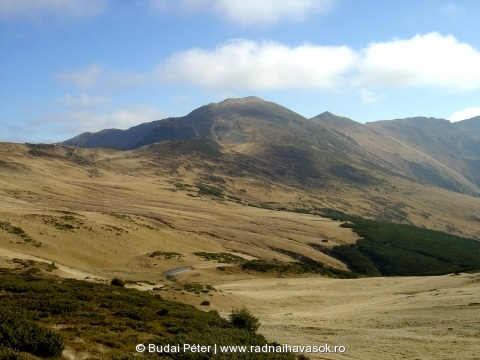
[[[439,275],[480,269],[480,241],[416,226],[368,220],[340,213],[361,239],[325,250],[368,276]]]

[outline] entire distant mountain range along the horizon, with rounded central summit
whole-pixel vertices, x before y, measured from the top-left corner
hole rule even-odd
[[[151,148],[157,143],[164,145]],[[329,112],[307,119],[247,97],[128,130],[83,133],[61,144],[156,151],[165,157],[179,149],[208,148],[211,160],[228,161],[231,171],[237,167],[242,176],[262,172],[289,185],[377,186],[393,176],[480,195],[480,117],[456,123],[415,117],[361,124]]]

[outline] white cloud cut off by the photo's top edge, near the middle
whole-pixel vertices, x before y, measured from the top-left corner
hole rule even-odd
[[[149,0],[157,11],[207,11],[242,25],[300,22],[331,11],[338,0]]]

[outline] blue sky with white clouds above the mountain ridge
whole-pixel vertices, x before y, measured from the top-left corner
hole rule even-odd
[[[478,0],[0,0],[0,141],[259,96],[307,118],[480,115]]]

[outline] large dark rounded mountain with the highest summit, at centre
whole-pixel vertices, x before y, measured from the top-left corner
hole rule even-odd
[[[148,123],[149,128],[142,125],[122,132],[90,134],[88,142],[82,141],[81,135],[63,144],[116,144],[126,150],[165,141],[208,140],[221,145],[225,152],[250,157],[250,163],[261,164],[278,181],[288,184],[318,187],[329,181],[362,185],[377,182],[368,170],[368,154],[355,143],[257,97],[227,99],[202,106],[184,117]]]

